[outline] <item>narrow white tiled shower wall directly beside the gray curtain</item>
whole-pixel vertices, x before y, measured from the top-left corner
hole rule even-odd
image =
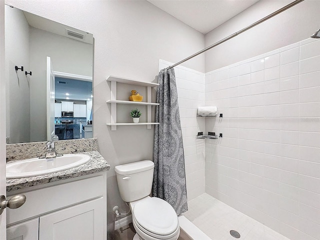
[[[159,60],[159,70],[173,63]],[[184,148],[185,178],[188,200],[205,190],[204,140],[196,139],[204,131],[204,118],[196,117],[198,106],[204,106],[204,73],[183,66],[174,67]]]

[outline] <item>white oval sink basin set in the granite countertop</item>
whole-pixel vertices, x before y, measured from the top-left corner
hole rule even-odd
[[[81,165],[91,158],[85,154],[64,154],[58,157],[30,158],[6,164],[6,178],[37,176]]]

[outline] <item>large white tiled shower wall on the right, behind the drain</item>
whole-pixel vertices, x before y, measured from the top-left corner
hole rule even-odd
[[[291,240],[320,239],[320,40],[205,74],[205,191]]]

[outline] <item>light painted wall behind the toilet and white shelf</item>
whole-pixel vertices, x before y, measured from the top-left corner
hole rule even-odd
[[[152,159],[153,128],[120,126],[111,131],[108,75],[145,81],[154,80],[158,60],[177,62],[204,47],[204,36],[151,3],[138,1],[50,1],[6,0],[34,14],[70,25],[93,34],[93,135],[98,150],[111,164],[108,171],[108,207],[120,205],[114,166]],[[204,56],[184,64],[204,72]],[[138,140],[136,140],[138,139]],[[124,210],[124,209],[123,209]]]

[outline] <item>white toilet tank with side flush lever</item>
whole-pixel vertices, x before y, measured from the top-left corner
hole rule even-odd
[[[150,160],[132,162],[114,167],[120,196],[130,202],[150,194],[154,163]]]

